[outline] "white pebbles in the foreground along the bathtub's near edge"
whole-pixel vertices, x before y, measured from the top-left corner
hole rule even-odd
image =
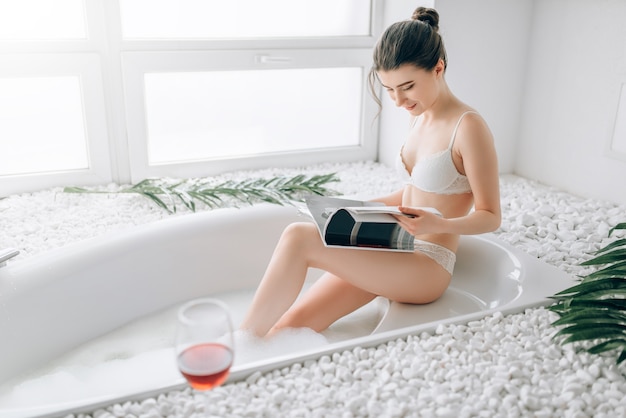
[[[296,363],[208,393],[220,417],[622,417],[623,368],[551,339],[546,309],[440,326],[375,348]],[[203,416],[190,390],[90,416]],[[72,415],[86,417],[84,414]]]

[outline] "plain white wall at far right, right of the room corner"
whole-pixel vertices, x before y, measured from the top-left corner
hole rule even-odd
[[[516,173],[626,204],[626,156],[608,151],[626,82],[625,19],[623,0],[535,2]]]

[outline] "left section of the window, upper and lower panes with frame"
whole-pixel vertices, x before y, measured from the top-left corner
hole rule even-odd
[[[87,16],[82,0],[0,1],[0,196],[112,180]]]

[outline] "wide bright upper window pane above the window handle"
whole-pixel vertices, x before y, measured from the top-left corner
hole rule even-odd
[[[121,0],[120,6],[124,39],[370,35],[371,4],[364,0]]]

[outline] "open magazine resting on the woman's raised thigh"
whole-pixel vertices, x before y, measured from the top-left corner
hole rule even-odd
[[[310,196],[306,206],[327,247],[413,252],[413,236],[392,215],[412,216],[379,202]],[[439,216],[434,208],[421,208]]]

